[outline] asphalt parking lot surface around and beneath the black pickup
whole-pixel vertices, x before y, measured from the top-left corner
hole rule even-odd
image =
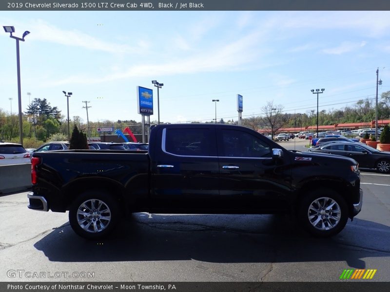
[[[27,192],[2,195],[0,281],[320,282],[340,281],[344,269],[390,281],[390,175],[362,171],[361,185],[362,211],[328,239],[290,216],[137,213],[109,239],[87,241],[67,213],[27,209]]]

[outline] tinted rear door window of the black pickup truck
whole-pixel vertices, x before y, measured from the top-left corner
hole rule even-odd
[[[208,128],[167,128],[165,151],[182,156],[216,156],[215,135]]]

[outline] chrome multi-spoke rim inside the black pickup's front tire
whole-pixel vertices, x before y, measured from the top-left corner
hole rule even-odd
[[[341,219],[341,209],[337,202],[331,198],[318,198],[310,204],[308,218],[314,228],[331,230]]]

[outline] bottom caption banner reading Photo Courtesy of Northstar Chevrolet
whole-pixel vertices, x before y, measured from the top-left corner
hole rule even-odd
[[[368,292],[390,282],[2,282],[1,292]]]

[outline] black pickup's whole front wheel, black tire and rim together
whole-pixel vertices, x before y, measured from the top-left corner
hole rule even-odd
[[[347,224],[347,202],[331,189],[312,191],[300,201],[298,219],[312,236],[331,237]]]

